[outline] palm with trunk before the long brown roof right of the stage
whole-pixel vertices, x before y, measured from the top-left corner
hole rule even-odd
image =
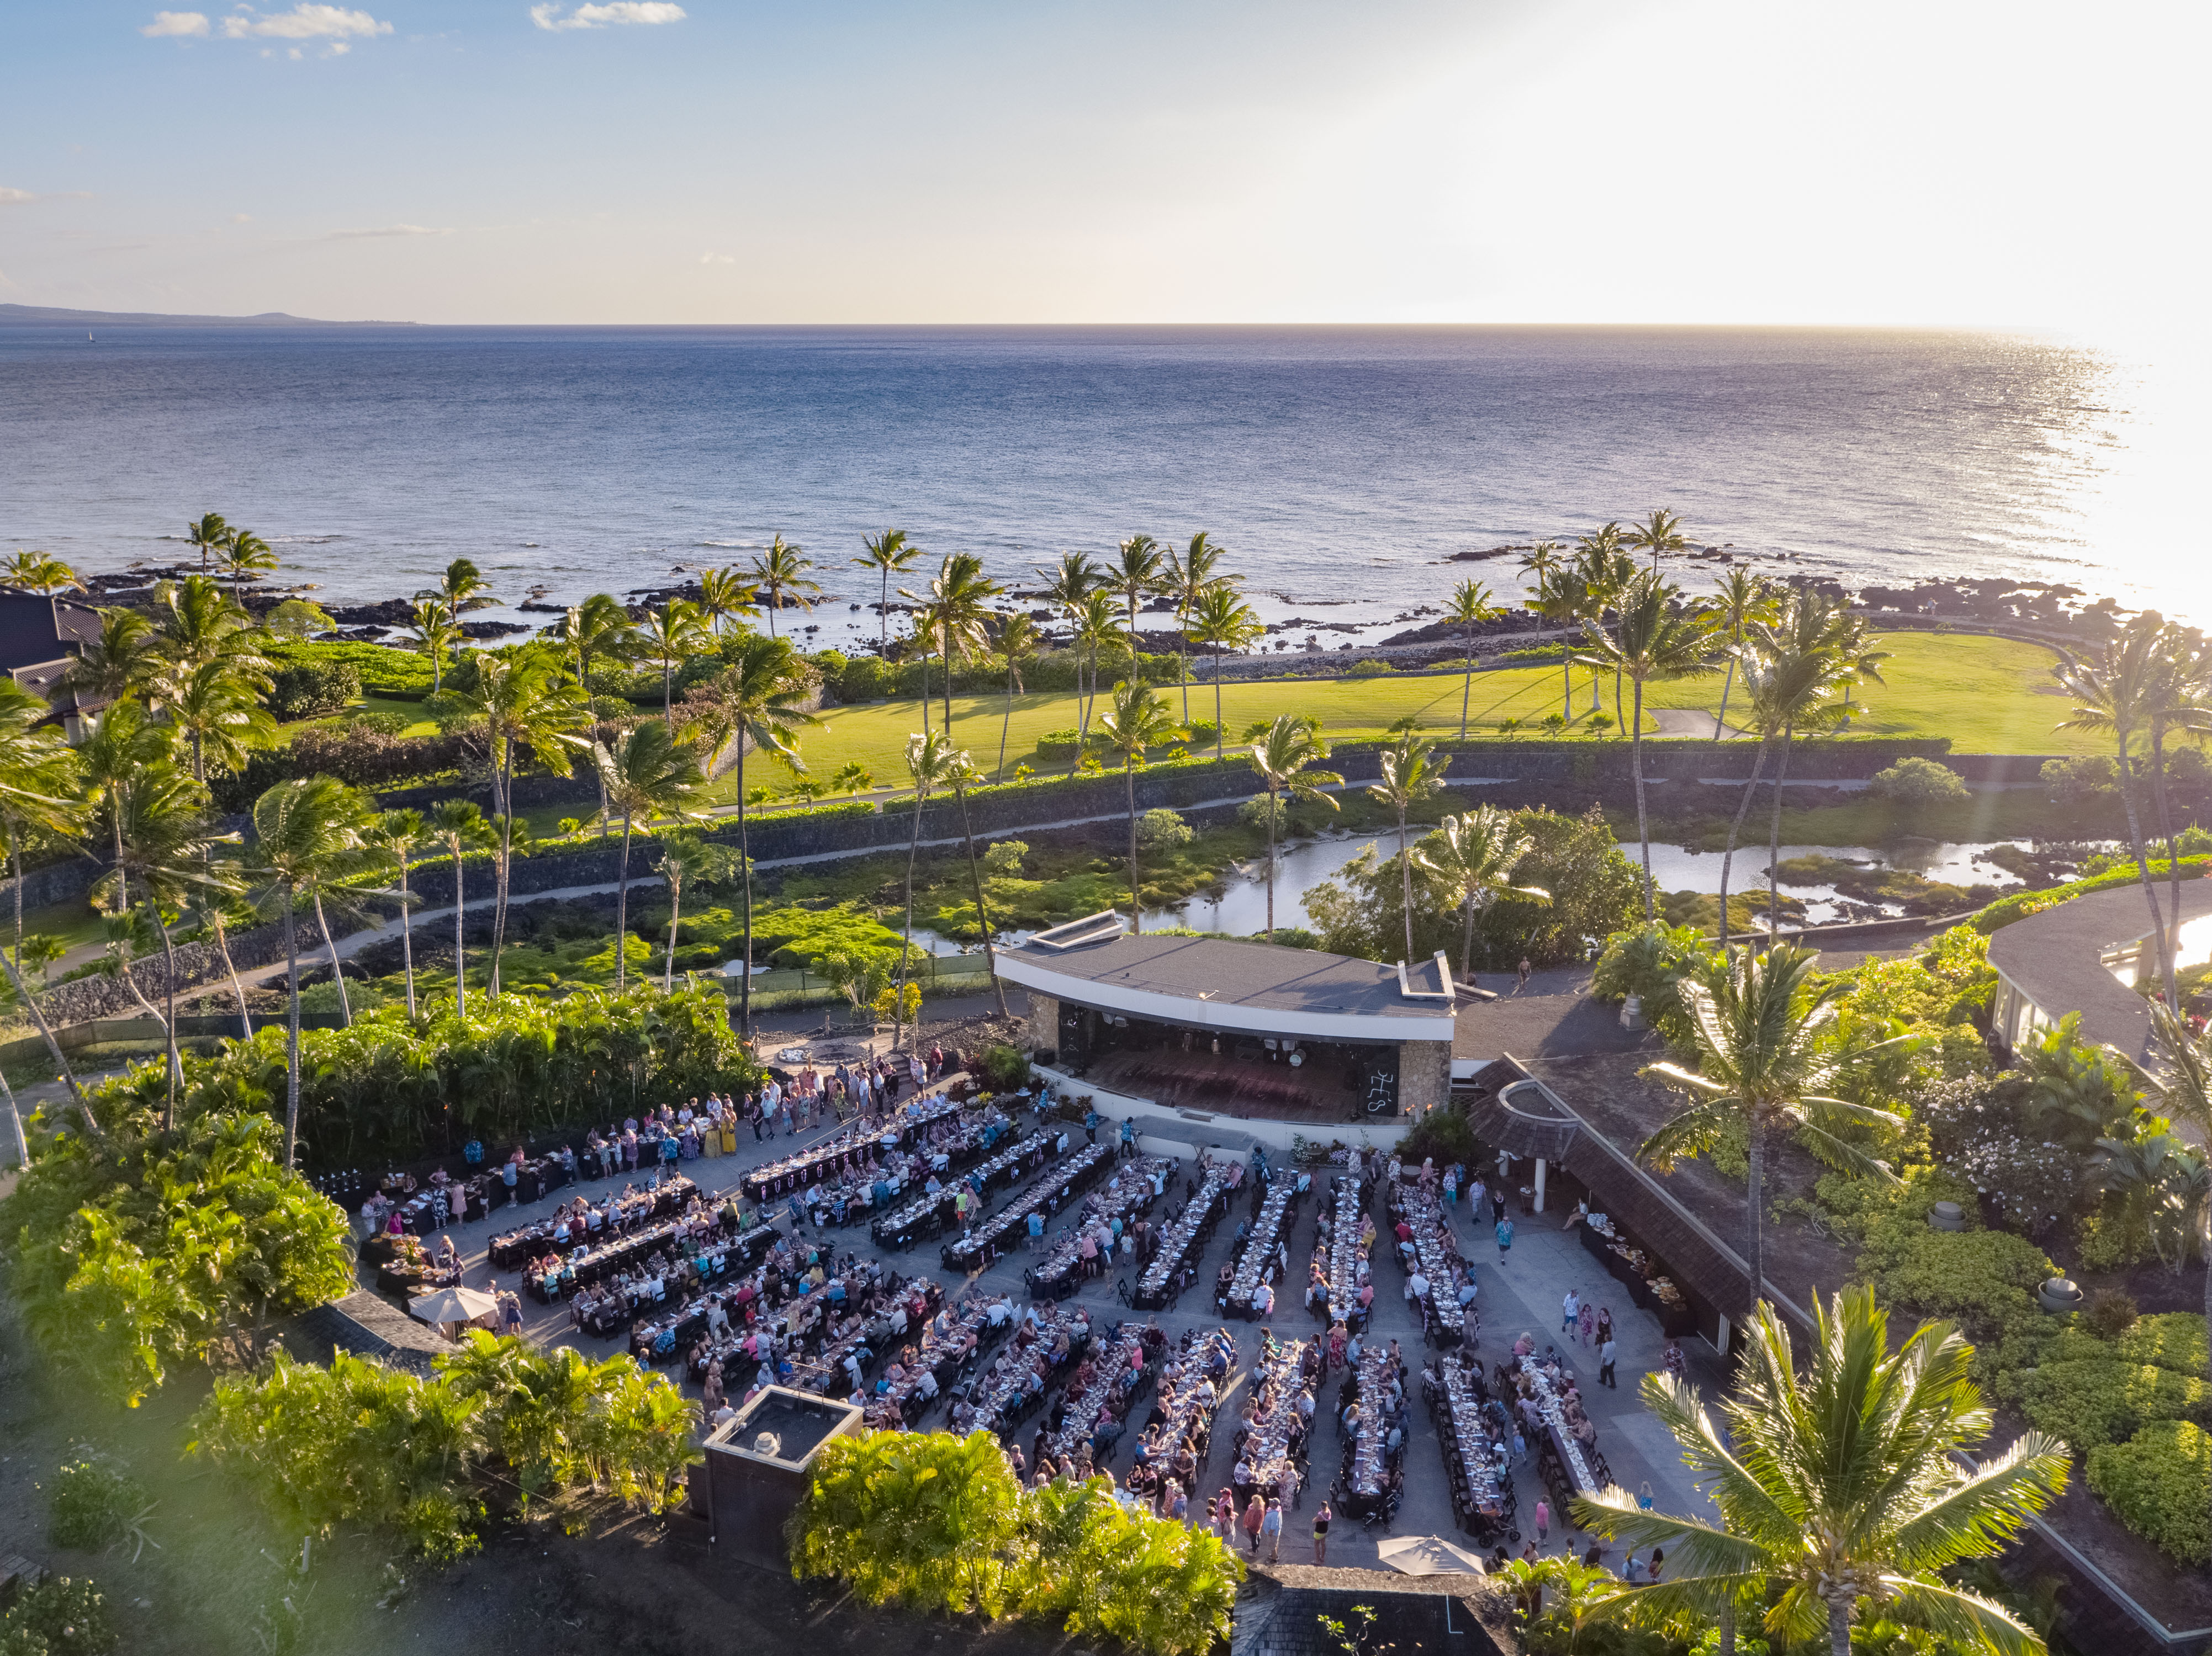
[[[1666,1172],[1679,1156],[1708,1152],[1732,1134],[1745,1139],[1745,1307],[1765,1293],[1765,1167],[1767,1141],[1776,1130],[1794,1128],[1805,1134],[1834,1167],[1896,1183],[1889,1167],[1840,1134],[1854,1125],[1898,1128],[1900,1119],[1834,1099],[1825,1088],[1836,1086],[1847,1061],[1889,1050],[1898,1041],[1860,1048],[1847,1059],[1829,1039],[1836,1002],[1847,984],[1840,977],[1816,982],[1816,960],[1818,951],[1774,944],[1763,955],[1752,955],[1750,948],[1732,953],[1710,984],[1683,977],[1674,993],[1690,1015],[1697,1070],[1652,1063],[1641,1072],[1681,1088],[1690,1103],[1641,1143],[1639,1159]]]

